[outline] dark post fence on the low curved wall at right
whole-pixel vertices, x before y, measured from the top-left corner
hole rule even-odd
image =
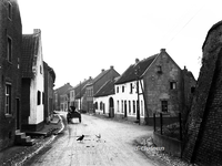
[[[153,114],[153,131],[155,133],[160,133],[161,135],[165,135],[169,137],[173,137],[182,141],[182,120],[181,113],[178,116],[171,117],[170,114],[162,114],[157,117],[157,114]],[[165,116],[165,117],[164,117]]]

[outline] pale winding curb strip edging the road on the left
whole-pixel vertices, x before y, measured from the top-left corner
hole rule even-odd
[[[42,148],[44,148],[50,143],[52,143],[52,141],[54,141],[54,138],[58,136],[58,134],[60,134],[64,129],[64,124],[63,124],[62,117],[59,114],[58,114],[58,117],[60,118],[61,125],[62,125],[62,127],[59,129],[59,132],[57,134],[52,135],[49,141],[47,141],[42,146],[40,146],[39,148],[37,148],[33,153],[28,154],[27,156],[24,156],[21,162],[16,163],[14,166],[22,166],[26,160],[30,159],[31,157],[33,157],[34,155],[37,155]]]

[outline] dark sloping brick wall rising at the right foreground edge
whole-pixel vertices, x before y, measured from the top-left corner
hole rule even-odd
[[[222,165],[222,22],[209,30],[202,49],[183,158],[216,166]]]

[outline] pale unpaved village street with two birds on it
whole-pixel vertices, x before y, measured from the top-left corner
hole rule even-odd
[[[137,146],[133,145],[135,138],[151,136],[152,127],[82,114],[82,123],[79,123],[77,118],[65,128],[57,142],[49,145],[43,153],[31,158],[26,165],[157,165],[143,153],[137,151]],[[85,136],[84,139],[78,142],[77,138],[82,134]],[[99,134],[101,134],[101,138],[95,136]]]

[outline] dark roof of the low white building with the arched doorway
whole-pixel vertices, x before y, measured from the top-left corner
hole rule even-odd
[[[108,96],[114,94],[114,80],[107,81],[101,89],[94,94],[94,97]]]

